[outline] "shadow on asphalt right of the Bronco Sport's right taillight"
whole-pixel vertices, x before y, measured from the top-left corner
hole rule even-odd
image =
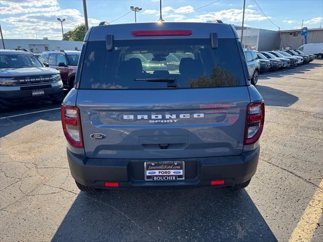
[[[288,107],[298,100],[297,96],[276,88],[261,85],[256,85],[255,88],[261,94],[267,106]]]

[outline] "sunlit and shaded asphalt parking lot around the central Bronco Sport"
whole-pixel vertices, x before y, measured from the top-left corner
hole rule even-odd
[[[60,105],[0,113],[0,241],[323,241],[323,61],[262,74],[256,87],[261,154],[239,192],[79,192]]]

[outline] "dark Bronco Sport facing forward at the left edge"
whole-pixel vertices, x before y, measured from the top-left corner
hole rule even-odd
[[[0,108],[35,100],[62,102],[60,73],[28,51],[0,49]]]

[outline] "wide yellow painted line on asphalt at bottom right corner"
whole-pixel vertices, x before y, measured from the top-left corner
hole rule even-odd
[[[298,221],[289,241],[311,241],[323,212],[323,179]]]

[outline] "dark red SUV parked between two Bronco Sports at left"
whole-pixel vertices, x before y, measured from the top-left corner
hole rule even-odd
[[[74,87],[80,53],[78,50],[48,50],[42,52],[39,59],[46,67],[59,70],[64,87],[71,89]]]

